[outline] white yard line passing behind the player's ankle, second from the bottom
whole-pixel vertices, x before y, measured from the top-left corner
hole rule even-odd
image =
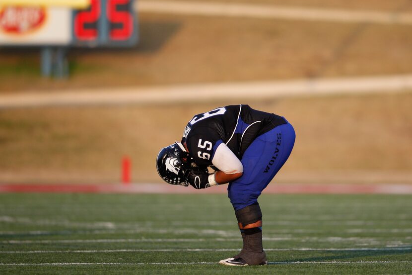
[[[224,252],[239,251],[239,248],[228,249],[103,249],[103,250],[27,250],[27,251],[0,251],[0,254],[38,254],[38,253],[122,253],[122,252]],[[265,251],[411,251],[411,247],[388,248],[265,248]]]

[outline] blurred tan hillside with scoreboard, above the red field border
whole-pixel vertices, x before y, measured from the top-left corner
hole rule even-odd
[[[412,183],[411,0],[0,6],[0,183],[119,183],[125,156],[160,183],[159,148],[236,103],[294,125],[277,183]]]

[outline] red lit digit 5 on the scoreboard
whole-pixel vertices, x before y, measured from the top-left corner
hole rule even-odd
[[[119,11],[118,5],[127,5],[130,0],[108,0],[107,17],[112,24],[121,24],[121,28],[112,28],[110,38],[113,40],[128,40],[133,34],[133,16],[129,11]]]

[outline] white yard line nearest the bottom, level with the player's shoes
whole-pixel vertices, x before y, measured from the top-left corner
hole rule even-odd
[[[269,262],[268,265],[296,265],[296,264],[400,264],[412,261],[314,261],[314,262]],[[142,266],[142,265],[217,265],[217,262],[190,262],[190,263],[0,263],[0,266]]]

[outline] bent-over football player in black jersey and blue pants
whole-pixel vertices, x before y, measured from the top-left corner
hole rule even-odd
[[[230,105],[195,115],[182,141],[160,150],[157,171],[167,183],[196,189],[229,183],[243,248],[220,264],[267,264],[258,197],[288,159],[294,142],[295,131],[284,117]],[[210,174],[207,167],[215,172]]]

